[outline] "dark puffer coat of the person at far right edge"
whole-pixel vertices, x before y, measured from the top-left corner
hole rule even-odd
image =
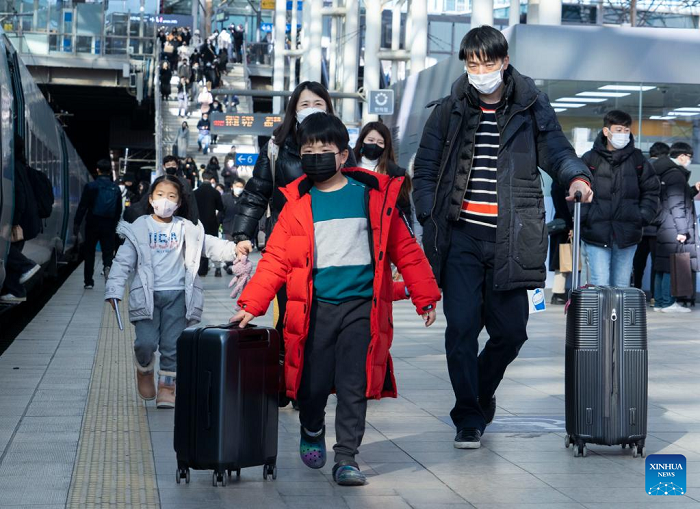
[[[654,221],[658,225],[654,270],[669,273],[672,254],[690,253],[690,266],[697,272],[700,241],[693,197],[698,192],[688,185],[690,170],[668,156],[658,158],[654,169],[661,181],[661,206]],[[678,235],[687,237],[684,244],[678,242]]]

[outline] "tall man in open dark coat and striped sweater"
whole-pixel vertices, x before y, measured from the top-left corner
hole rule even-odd
[[[528,288],[543,287],[547,232],[539,168],[591,199],[590,173],[549,99],[509,65],[508,42],[481,26],[462,40],[468,72],[436,101],[414,166],[423,247],[444,291],[454,446],[476,449],[495,391],[527,340]],[[481,355],[478,336],[489,341]]]

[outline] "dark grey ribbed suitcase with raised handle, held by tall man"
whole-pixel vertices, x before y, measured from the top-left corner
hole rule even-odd
[[[566,447],[630,447],[646,456],[646,297],[636,288],[579,288],[580,197],[574,210],[573,281],[566,317]]]

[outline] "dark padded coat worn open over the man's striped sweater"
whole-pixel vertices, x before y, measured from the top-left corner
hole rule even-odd
[[[504,100],[496,110],[498,218],[494,290],[543,287],[547,232],[538,168],[567,189],[590,173],[562,133],[549,99],[512,66],[504,73]],[[435,105],[416,154],[413,201],[423,246],[440,284],[452,225],[459,220],[471,173],[479,94],[466,74]]]

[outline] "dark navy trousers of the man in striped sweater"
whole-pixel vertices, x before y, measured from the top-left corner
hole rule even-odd
[[[495,244],[477,240],[462,225],[452,230],[443,276],[447,318],[445,351],[456,403],[450,416],[458,430],[486,427],[479,405],[490,401],[508,365],[527,340],[527,290],[494,291]],[[479,333],[489,340],[479,354]]]

